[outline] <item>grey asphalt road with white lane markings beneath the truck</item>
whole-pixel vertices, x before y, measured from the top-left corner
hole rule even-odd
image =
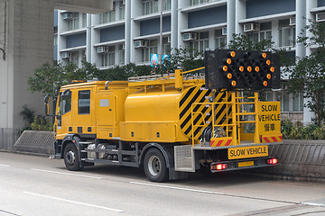
[[[0,215],[325,215],[325,185],[223,173],[164,184],[119,166],[0,152]]]

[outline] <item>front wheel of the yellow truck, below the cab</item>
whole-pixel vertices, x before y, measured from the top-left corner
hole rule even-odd
[[[80,167],[79,154],[76,146],[73,143],[69,143],[64,148],[64,164],[71,171],[79,171],[83,168]]]

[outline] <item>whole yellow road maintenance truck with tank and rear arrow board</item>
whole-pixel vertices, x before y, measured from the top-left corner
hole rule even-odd
[[[257,90],[279,85],[278,57],[224,49],[206,51],[205,60],[197,69],[204,77],[176,69],[61,86],[54,96],[55,157],[73,171],[144,167],[153,182],[277,164],[268,148],[282,142],[280,103],[259,101]]]

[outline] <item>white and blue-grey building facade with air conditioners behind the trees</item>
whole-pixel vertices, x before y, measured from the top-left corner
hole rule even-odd
[[[233,33],[249,40],[271,38],[274,48],[304,57],[312,49],[295,44],[297,36],[307,20],[321,22],[325,16],[325,0],[116,0],[113,7],[104,14],[56,11],[54,59],[81,67],[86,58],[100,69],[150,64],[152,53],[175,48],[222,49]],[[265,98],[282,101],[284,117],[311,121],[302,93],[281,89]]]

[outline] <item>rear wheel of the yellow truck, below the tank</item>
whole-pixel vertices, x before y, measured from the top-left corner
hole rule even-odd
[[[166,182],[168,168],[163,153],[158,148],[151,148],[144,156],[144,174],[151,182]]]

